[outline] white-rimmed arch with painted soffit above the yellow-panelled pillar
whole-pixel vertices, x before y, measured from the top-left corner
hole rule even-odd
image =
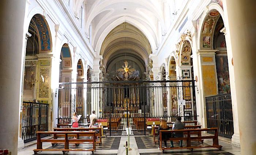
[[[206,20],[207,19],[211,19],[211,18],[208,18],[209,17],[209,14],[212,12],[212,11],[217,11],[218,13],[219,13],[219,15],[216,15],[216,16],[212,16],[212,18],[214,18],[214,24],[215,25],[213,25],[212,26],[212,28],[211,28],[211,30],[214,30],[215,29],[215,26],[216,26],[216,23],[217,23],[217,21],[218,21],[218,19],[219,19],[219,16],[221,16],[222,17],[222,19],[223,19],[223,23],[224,23],[224,26],[225,26],[225,16],[224,16],[224,12],[223,12],[223,9],[222,9],[222,7],[219,5],[219,4],[217,4],[217,3],[211,3],[211,4],[209,4],[207,7],[206,7],[206,9],[204,10],[204,12],[203,12],[203,14],[202,14],[202,17],[201,17],[201,20],[200,20],[200,23],[199,23],[199,30],[198,30],[198,33],[197,33],[197,38],[199,38],[199,42],[197,42],[197,49],[199,49],[199,50],[201,50],[201,49],[213,49],[212,48],[212,42],[211,42],[211,40],[210,40],[210,47],[208,46],[208,48],[203,48],[203,39],[204,40],[207,40],[208,38],[203,38],[203,27],[204,27],[204,24],[207,22]],[[217,12],[213,12],[213,13],[217,13]],[[207,30],[205,29],[205,32],[206,32]],[[208,31],[210,31],[210,30],[208,30]],[[211,31],[212,32],[212,31]],[[213,35],[213,33],[210,33],[210,35],[204,35],[205,37],[211,37],[210,39],[212,39],[212,35]]]

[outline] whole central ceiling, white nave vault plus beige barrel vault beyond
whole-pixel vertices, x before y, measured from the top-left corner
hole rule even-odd
[[[107,57],[114,50],[127,49],[145,59],[155,53],[170,26],[173,6],[184,0],[72,0],[75,12],[83,5],[84,31],[97,55]],[[174,10],[175,11],[175,10]],[[166,14],[167,12],[167,14]],[[169,14],[168,14],[169,13]],[[169,20],[167,20],[169,19]],[[167,21],[167,22],[166,22]],[[127,23],[128,30],[117,33]],[[131,34],[134,32],[135,34]],[[111,36],[110,34],[113,34]],[[126,35],[127,46],[124,47]],[[136,36],[137,35],[137,36]],[[140,35],[140,36],[138,36]],[[112,38],[113,37],[113,38]],[[120,44],[117,46],[117,44]],[[106,52],[106,53],[105,53]]]

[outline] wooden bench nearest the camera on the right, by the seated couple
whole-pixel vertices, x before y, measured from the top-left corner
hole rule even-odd
[[[191,137],[192,132],[202,132],[202,131],[214,131],[214,136],[197,136],[197,137]],[[162,134],[168,134],[168,133],[173,133],[173,132],[187,132],[187,137],[170,137],[166,139],[167,141],[170,140],[185,140],[187,142],[187,146],[185,147],[169,147],[169,148],[163,148],[162,147]],[[166,150],[166,149],[182,149],[182,148],[188,148],[191,151],[193,151],[193,148],[208,148],[208,147],[215,147],[221,150],[222,146],[219,145],[219,140],[218,140],[218,128],[205,128],[205,129],[181,129],[181,130],[160,130],[159,131],[159,146],[160,150]],[[212,139],[213,144],[212,146],[191,146],[191,141],[192,140],[200,140],[200,139]]]

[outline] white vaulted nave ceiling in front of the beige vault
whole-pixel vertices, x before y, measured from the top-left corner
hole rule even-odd
[[[161,41],[159,36],[165,30],[163,0],[87,0],[85,7],[85,31],[89,32],[91,25],[91,45],[98,55],[103,55],[106,36],[124,22],[146,36],[153,53]]]

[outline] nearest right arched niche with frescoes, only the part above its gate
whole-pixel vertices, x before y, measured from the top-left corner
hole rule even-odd
[[[212,78],[211,81],[215,81],[214,85],[217,87],[214,88],[214,92],[211,92],[210,84],[204,85],[206,96],[230,93],[229,64],[223,29],[225,27],[221,14],[215,9],[209,11],[203,21],[200,45],[201,50],[213,50],[215,52],[212,58],[203,57],[202,61],[203,63],[214,63],[215,66],[212,67],[211,74],[215,75],[214,80]]]

